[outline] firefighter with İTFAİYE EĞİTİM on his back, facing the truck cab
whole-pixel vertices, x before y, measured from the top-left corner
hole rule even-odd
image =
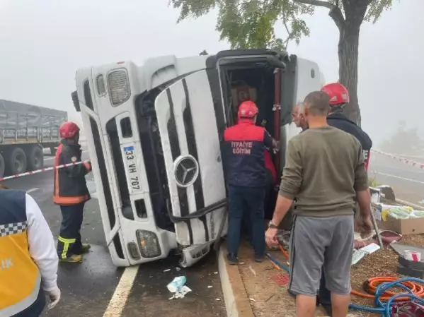
[[[255,260],[265,256],[264,200],[266,171],[264,150],[278,148],[277,142],[261,126],[256,126],[258,107],[252,101],[242,102],[237,124],[224,131],[224,171],[229,187],[229,228],[227,249],[229,263],[238,262],[241,220],[248,208],[251,242]]]

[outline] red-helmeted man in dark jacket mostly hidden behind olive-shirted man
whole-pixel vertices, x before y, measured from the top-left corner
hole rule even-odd
[[[348,90],[340,83],[330,83],[323,86],[321,89],[322,92],[330,97],[330,113],[327,117],[328,126],[333,126],[339,128],[346,133],[349,133],[361,143],[362,153],[364,155],[365,167],[368,167],[369,163],[369,151],[372,147],[372,140],[369,138],[368,134],[362,131],[362,129],[355,124],[355,122],[350,121],[343,110],[345,104],[349,102],[349,93]],[[326,309],[331,316],[331,294],[330,291],[326,288],[326,277],[324,273],[321,273],[321,283],[319,289],[319,303]]]

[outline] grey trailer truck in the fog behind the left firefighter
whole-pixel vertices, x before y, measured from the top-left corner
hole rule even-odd
[[[67,112],[0,100],[0,177],[40,169],[43,148],[52,155]]]

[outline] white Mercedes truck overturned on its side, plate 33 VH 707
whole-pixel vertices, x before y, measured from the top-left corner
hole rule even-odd
[[[239,103],[256,101],[258,124],[282,140],[273,157],[282,171],[298,132],[292,106],[322,84],[314,62],[267,49],[79,69],[72,99],[113,263],[155,261],[173,249],[183,266],[205,256],[227,232],[220,143]]]

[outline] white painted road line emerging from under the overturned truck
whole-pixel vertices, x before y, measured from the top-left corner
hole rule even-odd
[[[137,276],[138,269],[139,265],[125,268],[103,317],[120,317],[122,315],[125,303],[130,296],[132,285]]]

